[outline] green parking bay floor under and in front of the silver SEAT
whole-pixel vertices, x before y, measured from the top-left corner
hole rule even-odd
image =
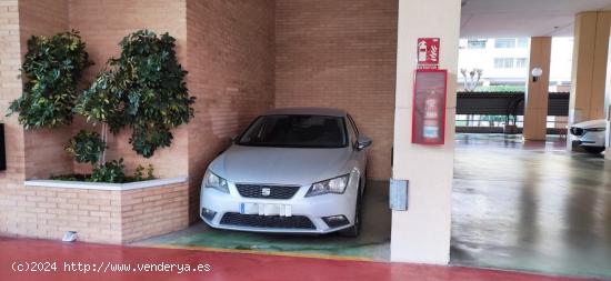
[[[362,232],[358,238],[344,238],[338,234],[303,237],[249,233],[216,230],[199,222],[183,231],[139,241],[136,244],[388,261],[390,220],[388,182],[369,181],[365,190]]]

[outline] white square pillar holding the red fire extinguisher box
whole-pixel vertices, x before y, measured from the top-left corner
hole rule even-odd
[[[392,177],[409,180],[409,209],[392,212],[392,261],[447,264],[450,260],[460,9],[457,0],[399,0]],[[441,39],[440,68],[448,70],[443,145],[411,143],[418,38]]]

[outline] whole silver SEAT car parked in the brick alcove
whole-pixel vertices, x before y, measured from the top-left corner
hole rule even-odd
[[[345,111],[273,110],[210,163],[200,217],[218,229],[355,237],[370,144]]]

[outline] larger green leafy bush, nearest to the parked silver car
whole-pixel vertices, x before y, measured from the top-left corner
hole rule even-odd
[[[112,58],[80,98],[77,112],[90,122],[104,122],[117,133],[132,129],[132,149],[146,158],[172,142],[171,130],[193,117],[176,39],[136,31],[121,40],[121,56]]]

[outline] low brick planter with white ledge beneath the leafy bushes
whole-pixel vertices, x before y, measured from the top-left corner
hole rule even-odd
[[[32,180],[16,189],[16,207],[0,223],[9,234],[127,243],[188,227],[187,178],[133,183]]]

